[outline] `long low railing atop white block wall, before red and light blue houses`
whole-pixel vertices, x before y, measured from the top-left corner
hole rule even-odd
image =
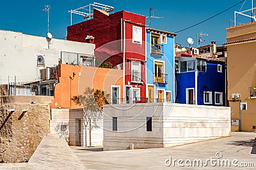
[[[176,100],[148,98],[148,97],[107,98],[107,101],[108,101],[108,104],[177,103]]]

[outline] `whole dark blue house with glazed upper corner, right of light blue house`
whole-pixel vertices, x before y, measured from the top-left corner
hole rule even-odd
[[[177,103],[225,106],[225,60],[175,57]]]

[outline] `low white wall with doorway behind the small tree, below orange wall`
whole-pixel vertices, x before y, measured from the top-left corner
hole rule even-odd
[[[98,128],[92,129],[92,146],[102,146],[103,120],[97,122]],[[61,129],[64,125],[64,129]],[[80,127],[79,127],[80,125]],[[80,130],[79,130],[80,129]],[[83,123],[83,109],[51,109],[51,134],[58,134],[72,146],[90,146],[89,125]],[[62,135],[61,135],[62,134]]]

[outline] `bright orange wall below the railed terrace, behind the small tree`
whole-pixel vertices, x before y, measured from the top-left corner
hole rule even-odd
[[[59,65],[59,82],[54,88],[51,108],[81,108],[71,98],[83,94],[86,87],[100,89],[111,94],[111,85],[120,85],[123,91],[123,70],[100,67]],[[121,97],[122,93],[121,93]]]

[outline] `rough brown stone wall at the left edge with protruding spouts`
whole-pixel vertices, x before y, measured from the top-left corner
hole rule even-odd
[[[20,103],[1,97],[0,162],[27,162],[42,138],[50,133],[49,104],[46,100],[40,103],[39,99],[38,103],[31,104],[23,97],[24,100],[18,100]],[[51,99],[48,98],[48,103]]]

